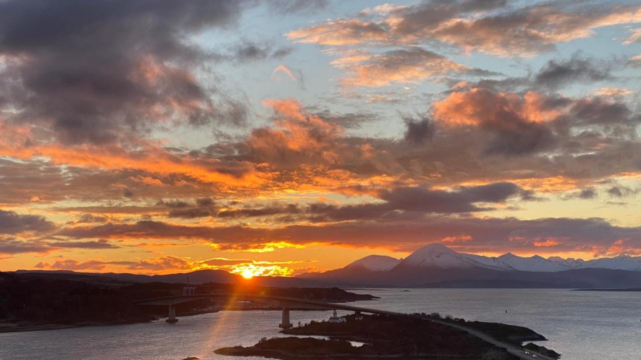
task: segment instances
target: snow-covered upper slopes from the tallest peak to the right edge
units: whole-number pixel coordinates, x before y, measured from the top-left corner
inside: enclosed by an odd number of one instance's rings
[[[560,272],[580,268],[605,268],[641,272],[641,256],[617,256],[585,261],[583,259],[563,259],[554,256],[548,259],[542,256],[524,258],[510,252],[498,257],[476,254],[462,254],[440,243],[431,243],[401,261],[402,266],[420,266],[428,268],[488,268],[503,271],[526,272]]]

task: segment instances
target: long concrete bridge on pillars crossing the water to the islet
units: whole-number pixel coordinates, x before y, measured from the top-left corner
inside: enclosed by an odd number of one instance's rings
[[[280,307],[283,311],[283,316],[279,327],[289,328],[292,323],[289,320],[289,311],[292,308],[300,310],[346,310],[354,311],[356,314],[369,313],[379,315],[394,315],[394,316],[407,316],[392,311],[367,309],[365,307],[349,306],[344,304],[337,304],[334,302],[326,302],[319,300],[298,299],[295,297],[281,297],[276,295],[260,295],[260,294],[237,294],[237,293],[208,293],[197,295],[176,295],[171,297],[158,297],[154,299],[144,299],[134,302],[137,305],[165,305],[169,306],[169,317],[167,322],[177,322],[176,319],[176,304],[196,300],[216,300],[217,302],[233,304],[239,301],[258,302],[260,304],[267,304],[271,306]]]

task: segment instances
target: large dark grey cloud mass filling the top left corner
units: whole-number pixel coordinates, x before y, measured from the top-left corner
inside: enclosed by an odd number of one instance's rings
[[[65,143],[136,140],[156,126],[241,122],[244,104],[189,72],[207,57],[188,37],[235,24],[247,1],[0,3],[0,98],[13,122]]]

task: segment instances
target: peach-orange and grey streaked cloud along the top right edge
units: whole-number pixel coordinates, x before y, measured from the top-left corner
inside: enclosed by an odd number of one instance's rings
[[[499,3],[496,3],[499,4]],[[557,6],[538,3],[521,8],[492,8],[478,2],[426,2],[378,11],[372,20],[338,19],[290,31],[298,42],[321,45],[415,45],[433,40],[498,56],[534,56],[556,44],[594,35],[594,29],[641,22],[641,6]],[[498,10],[488,12],[487,10]],[[372,15],[365,10],[363,15]],[[371,19],[371,17],[370,17]],[[624,40],[630,44],[637,33]]]

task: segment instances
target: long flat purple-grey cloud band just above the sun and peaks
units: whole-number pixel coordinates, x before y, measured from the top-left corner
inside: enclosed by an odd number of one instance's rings
[[[394,219],[397,220],[397,219]],[[469,236],[457,250],[503,252],[536,249],[538,252],[587,251],[596,255],[620,253],[641,246],[641,227],[621,227],[603,218],[476,218],[431,216],[419,221],[358,221],[278,228],[244,226],[206,227],[137,222],[64,229],[67,236],[88,238],[130,236],[137,238],[190,238],[211,241],[220,249],[253,249],[263,242],[329,243],[347,246],[383,246],[412,251],[444,238]],[[619,241],[622,240],[622,241]],[[535,245],[537,244],[537,245]]]

